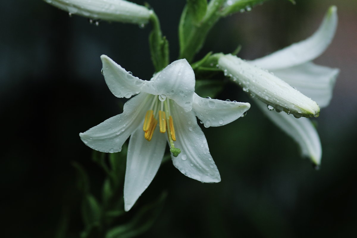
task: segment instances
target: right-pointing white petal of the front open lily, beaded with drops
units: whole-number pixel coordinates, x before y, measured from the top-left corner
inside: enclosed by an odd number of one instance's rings
[[[205,127],[223,126],[240,118],[248,109],[247,102],[227,102],[193,95],[192,110]]]

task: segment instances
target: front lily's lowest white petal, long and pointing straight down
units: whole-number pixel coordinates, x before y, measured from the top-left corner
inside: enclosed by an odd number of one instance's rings
[[[129,211],[149,186],[165,153],[166,135],[157,126],[151,141],[139,127],[130,137],[124,182],[124,207]]]

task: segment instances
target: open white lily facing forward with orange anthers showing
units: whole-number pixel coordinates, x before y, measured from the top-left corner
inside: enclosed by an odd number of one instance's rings
[[[194,92],[195,74],[185,59],[172,62],[151,81],[132,76],[106,55],[101,60],[105,81],[116,97],[139,94],[125,103],[123,113],[80,133],[80,137],[94,150],[113,153],[121,151],[131,136],[124,183],[125,211],[154,178],[166,141],[174,166],[181,173],[201,182],[220,182],[196,116],[205,127],[222,126],[241,117],[250,104],[198,96]]]

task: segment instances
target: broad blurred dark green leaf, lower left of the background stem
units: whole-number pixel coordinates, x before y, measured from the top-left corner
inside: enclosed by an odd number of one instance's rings
[[[82,219],[85,227],[100,225],[101,208],[92,194],[87,194],[82,201]]]

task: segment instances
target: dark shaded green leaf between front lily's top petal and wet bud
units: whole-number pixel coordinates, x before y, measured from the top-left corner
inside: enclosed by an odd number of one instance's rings
[[[223,90],[223,82],[218,80],[197,80],[195,92],[200,97],[215,98]]]

